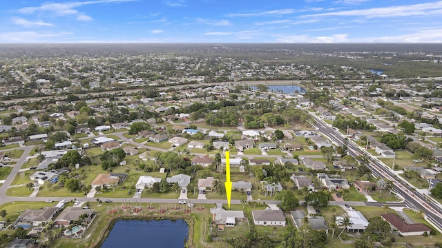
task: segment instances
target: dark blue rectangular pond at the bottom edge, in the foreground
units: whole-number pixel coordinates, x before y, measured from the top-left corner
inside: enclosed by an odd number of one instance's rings
[[[188,234],[184,220],[117,220],[102,248],[184,247]]]

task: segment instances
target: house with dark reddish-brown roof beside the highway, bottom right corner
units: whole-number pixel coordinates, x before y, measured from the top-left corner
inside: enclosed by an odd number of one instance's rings
[[[381,214],[381,217],[387,220],[392,229],[398,230],[398,233],[402,236],[420,236],[424,233],[430,234],[431,231],[430,227],[422,223],[408,224],[396,214]]]

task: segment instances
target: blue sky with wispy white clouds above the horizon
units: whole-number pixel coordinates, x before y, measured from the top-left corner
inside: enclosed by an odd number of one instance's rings
[[[442,1],[2,1],[0,43],[442,42]]]

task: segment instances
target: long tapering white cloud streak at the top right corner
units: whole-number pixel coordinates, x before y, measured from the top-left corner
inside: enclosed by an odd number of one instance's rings
[[[368,8],[363,10],[344,10],[320,14],[309,14],[304,17],[412,17],[425,15],[439,15],[442,12],[442,1],[434,3],[419,3],[404,6],[390,6],[381,8]]]

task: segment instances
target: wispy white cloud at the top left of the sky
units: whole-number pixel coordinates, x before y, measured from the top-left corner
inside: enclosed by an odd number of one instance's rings
[[[92,18],[88,17],[86,14],[75,10],[77,7],[99,4],[99,3],[121,3],[135,0],[97,0],[97,1],[74,1],[66,3],[50,3],[46,2],[38,7],[24,7],[17,10],[21,14],[40,14],[40,13],[50,13],[56,16],[70,16],[73,15],[79,21],[90,21]]]

